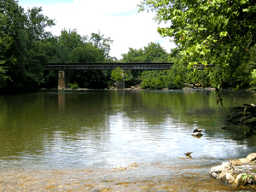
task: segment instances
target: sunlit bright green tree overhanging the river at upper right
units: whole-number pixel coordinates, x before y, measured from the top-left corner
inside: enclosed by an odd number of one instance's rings
[[[143,0],[139,6],[155,11],[154,20],[170,22],[158,32],[177,44],[181,60],[176,62],[189,67],[212,64],[209,80],[217,88],[230,81],[247,84],[255,65],[247,66],[256,42],[255,1]]]

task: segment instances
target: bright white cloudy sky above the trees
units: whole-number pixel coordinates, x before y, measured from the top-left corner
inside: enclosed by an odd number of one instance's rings
[[[43,14],[54,19],[56,25],[47,29],[53,35],[61,35],[63,29],[77,29],[79,35],[90,36],[101,32],[111,38],[110,56],[122,58],[129,48],[140,49],[150,42],[160,43],[168,53],[175,48],[170,38],[161,38],[154,13],[138,13],[141,0],[20,0],[25,10],[42,7]],[[168,24],[160,24],[168,26]]]

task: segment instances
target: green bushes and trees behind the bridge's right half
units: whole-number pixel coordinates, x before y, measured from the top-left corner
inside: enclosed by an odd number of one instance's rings
[[[160,44],[150,43],[143,49],[130,48],[123,54],[123,62],[171,62],[178,56],[171,57]],[[182,89],[184,86],[208,86],[207,71],[189,70],[176,63],[171,70],[166,71],[128,71],[125,72],[125,84],[139,84],[143,89]]]

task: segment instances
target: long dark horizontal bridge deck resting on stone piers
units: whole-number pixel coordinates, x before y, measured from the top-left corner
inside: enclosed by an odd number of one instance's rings
[[[75,70],[113,70],[120,67],[123,70],[169,70],[174,62],[154,63],[49,63],[44,70],[75,71]]]

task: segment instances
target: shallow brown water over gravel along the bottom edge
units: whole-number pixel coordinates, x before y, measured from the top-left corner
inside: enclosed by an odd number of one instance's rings
[[[205,170],[205,166],[168,166],[152,162],[105,169],[2,170],[0,191],[230,191],[206,172],[197,172],[199,169]]]

